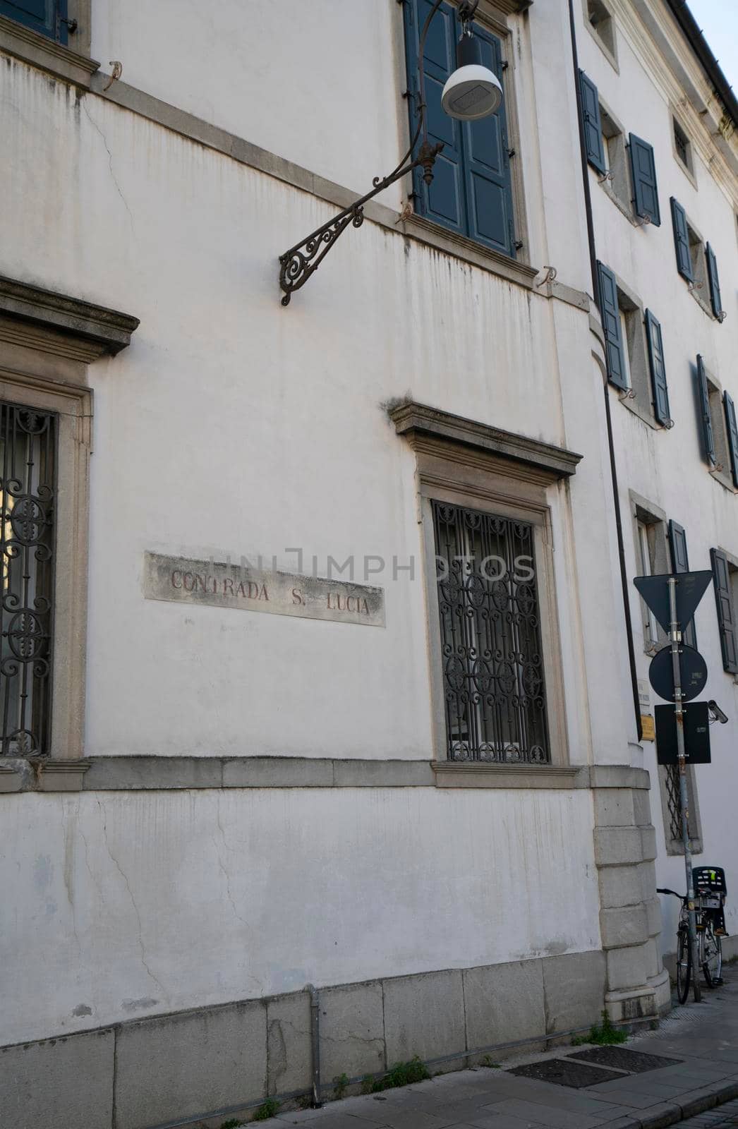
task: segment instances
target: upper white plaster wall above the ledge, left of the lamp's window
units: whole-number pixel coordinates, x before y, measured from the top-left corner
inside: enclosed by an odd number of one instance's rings
[[[358,193],[407,148],[395,0],[91,7],[91,54],[106,71],[120,60],[123,81]]]

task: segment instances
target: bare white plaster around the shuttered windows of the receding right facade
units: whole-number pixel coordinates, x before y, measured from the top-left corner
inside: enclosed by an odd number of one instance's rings
[[[581,6],[574,7],[579,20]],[[640,571],[635,564],[629,490],[636,491],[662,509],[667,518],[683,525],[689,567],[709,569],[712,546],[721,546],[738,555],[738,498],[710,476],[702,461],[694,393],[696,355],[700,352],[723,388],[730,392],[733,400],[738,399],[735,364],[738,352],[738,244],[733,204],[729,190],[715,181],[696,146],[693,146],[696,190],[682,170],[671,150],[668,98],[664,89],[656,85],[654,68],[644,63],[638,45],[629,40],[622,23],[617,21],[620,75],[607,62],[581,21],[578,42],[581,67],[596,82],[600,96],[625,131],[633,131],[653,146],[661,208],[660,228],[632,227],[598,185],[597,175],[590,169],[598,257],[640,296],[643,306],[650,307],[661,322],[669,404],[675,420],[671,430],[654,431],[620,404],[617,394],[610,391],[629,569],[632,576]],[[693,137],[697,135],[694,128],[691,132]],[[728,314],[722,325],[704,313],[677,273],[669,207],[671,195],[684,205],[689,221],[715,251],[722,304]],[[709,290],[705,288],[702,294],[709,304]],[[634,588],[631,610],[638,675],[648,680],[650,657],[643,653],[641,614]],[[709,671],[701,698],[715,699],[730,717],[728,725],[711,727],[712,763],[695,768],[704,844],[703,852],[695,856],[695,865],[726,868],[729,891],[727,925],[729,931],[735,931],[738,928],[738,829],[735,820],[738,686],[722,668],[712,588],[708,589],[697,609],[695,623],[697,645]],[[660,701],[652,692],[651,698],[652,702]],[[651,815],[659,848],[658,884],[684,891],[684,859],[666,855],[656,752],[651,743],[643,745],[643,763],[650,770],[652,780]],[[668,898],[662,899],[662,904],[661,946],[664,952],[674,952],[678,905],[675,899]]]

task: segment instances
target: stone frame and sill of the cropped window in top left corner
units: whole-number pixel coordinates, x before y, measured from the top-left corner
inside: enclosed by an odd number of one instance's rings
[[[69,44],[34,32],[10,16],[0,16],[0,51],[21,59],[56,78],[89,89],[99,63],[90,59],[93,0],[68,0],[68,18],[77,20]]]

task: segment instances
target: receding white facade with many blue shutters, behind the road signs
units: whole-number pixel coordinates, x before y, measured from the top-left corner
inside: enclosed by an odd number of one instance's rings
[[[706,662],[700,698],[729,721],[710,728],[712,762],[688,769],[691,831],[695,866],[727,872],[735,933],[736,103],[705,69],[711,52],[683,6],[587,0],[578,15],[583,90],[599,117],[589,120],[588,177],[625,559],[631,576],[714,572],[685,641]],[[666,640],[634,588],[631,616],[658,884],[684,892],[678,778],[657,765],[648,729],[661,701],[649,664]],[[662,909],[661,947],[673,954],[678,903],[666,898]]]

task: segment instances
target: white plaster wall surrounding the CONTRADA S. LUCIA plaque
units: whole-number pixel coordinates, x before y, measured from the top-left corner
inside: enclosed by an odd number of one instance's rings
[[[556,373],[573,403],[591,380],[586,315],[562,315],[557,357],[545,299],[369,222],[283,309],[284,216],[307,231],[326,207],[20,64],[11,76],[6,272],[141,317],[90,374],[87,752],[428,758],[414,457],[381,402],[410,392],[582,450],[591,420],[580,405],[564,425]],[[604,510],[601,457],[589,443],[578,474]],[[554,522],[571,754],[587,760],[572,530],[556,507]],[[147,549],[289,567],[298,545],[306,561],[414,554],[415,579],[390,563],[378,578],[385,630],[141,595]],[[605,545],[582,539],[580,570],[606,574]],[[603,686],[617,666],[603,656]],[[622,762],[609,733],[604,755]]]

